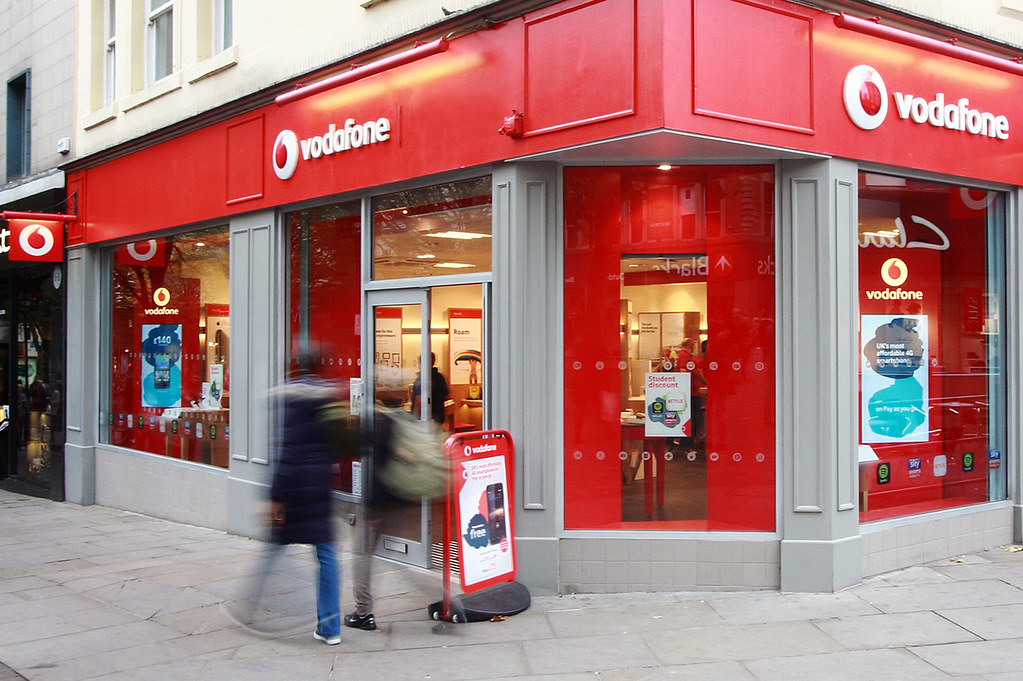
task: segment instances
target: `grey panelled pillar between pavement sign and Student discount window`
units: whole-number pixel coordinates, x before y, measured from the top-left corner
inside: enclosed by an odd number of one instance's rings
[[[534,594],[558,593],[559,175],[522,164],[493,177],[493,426],[515,441],[518,579]]]

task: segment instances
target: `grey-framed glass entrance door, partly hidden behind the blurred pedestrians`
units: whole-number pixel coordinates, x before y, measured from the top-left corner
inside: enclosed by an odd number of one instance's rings
[[[373,407],[416,410],[420,419],[430,418],[434,376],[431,371],[419,371],[420,367],[431,365],[430,290],[370,291],[367,312],[371,320],[371,349],[364,356],[371,360],[366,371],[366,403]],[[366,411],[370,419],[380,417],[375,408]],[[426,501],[407,504],[392,513],[379,553],[429,566],[430,504]]]

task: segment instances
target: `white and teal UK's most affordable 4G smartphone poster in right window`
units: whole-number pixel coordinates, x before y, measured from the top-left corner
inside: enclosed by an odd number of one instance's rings
[[[862,315],[863,443],[927,442],[927,315]]]

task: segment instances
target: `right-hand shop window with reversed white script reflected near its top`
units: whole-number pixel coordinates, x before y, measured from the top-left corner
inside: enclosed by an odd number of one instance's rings
[[[1005,197],[859,174],[860,520],[1005,499]]]

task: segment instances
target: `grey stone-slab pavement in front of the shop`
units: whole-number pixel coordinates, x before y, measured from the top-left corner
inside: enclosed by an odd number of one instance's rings
[[[438,572],[376,560],[379,629],[338,646],[311,635],[309,547],[268,577],[261,633],[232,620],[263,546],[0,491],[0,681],[1023,681],[1019,546],[835,594],[570,594],[466,625],[428,618]]]

